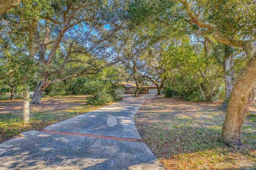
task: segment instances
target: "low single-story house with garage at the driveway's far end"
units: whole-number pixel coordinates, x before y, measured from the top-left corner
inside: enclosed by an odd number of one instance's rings
[[[134,94],[136,85],[131,83],[125,83],[122,82],[122,84],[125,87],[125,94]],[[140,86],[140,88],[143,88],[141,92],[144,94],[157,94],[157,88],[156,85],[150,85],[150,86]],[[161,93],[164,91],[164,88],[161,89]]]

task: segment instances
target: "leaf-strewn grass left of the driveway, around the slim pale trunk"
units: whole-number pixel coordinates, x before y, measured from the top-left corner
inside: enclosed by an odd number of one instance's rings
[[[87,96],[56,96],[42,98],[40,105],[30,105],[30,123],[22,123],[22,100],[0,101],[0,143],[28,130],[40,130],[77,115],[106,105],[90,106]]]

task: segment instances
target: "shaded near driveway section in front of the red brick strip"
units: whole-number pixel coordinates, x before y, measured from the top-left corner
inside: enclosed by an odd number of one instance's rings
[[[34,132],[0,145],[0,169],[154,170],[159,166],[143,143]]]

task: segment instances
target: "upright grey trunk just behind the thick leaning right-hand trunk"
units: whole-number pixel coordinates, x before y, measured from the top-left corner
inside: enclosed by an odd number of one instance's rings
[[[225,100],[223,102],[223,107],[226,108],[228,106],[228,99],[230,97],[232,88],[233,88],[233,80],[234,80],[234,56],[226,58],[224,61],[224,80],[225,80]]]

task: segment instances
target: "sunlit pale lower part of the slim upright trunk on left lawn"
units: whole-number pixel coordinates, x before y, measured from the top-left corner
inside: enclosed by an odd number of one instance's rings
[[[24,123],[29,123],[29,86],[26,86],[23,92],[22,114]]]

